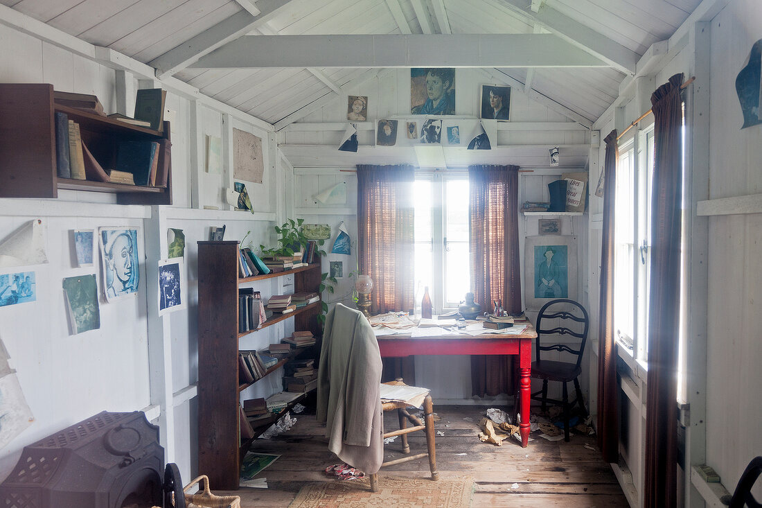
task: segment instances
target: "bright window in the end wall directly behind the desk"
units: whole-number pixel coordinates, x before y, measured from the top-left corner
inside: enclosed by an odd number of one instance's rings
[[[466,173],[415,176],[415,307],[429,288],[434,312],[470,291],[469,180]]]

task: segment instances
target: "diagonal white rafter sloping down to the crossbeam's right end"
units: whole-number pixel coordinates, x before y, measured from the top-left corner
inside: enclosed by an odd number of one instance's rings
[[[531,7],[531,3],[527,3],[531,0],[503,0],[503,2],[521,13],[527,13]],[[635,73],[635,64],[640,55],[623,47],[620,43],[604,37],[584,24],[572,21],[568,16],[547,6],[534,14],[532,18],[546,30],[559,34],[565,40],[597,58],[604,59],[622,72]]]

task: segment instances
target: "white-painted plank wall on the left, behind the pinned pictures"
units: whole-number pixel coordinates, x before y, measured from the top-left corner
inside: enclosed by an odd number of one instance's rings
[[[34,32],[34,24],[31,25]],[[46,37],[51,37],[46,34]],[[0,24],[0,82],[50,82],[56,90],[98,95],[107,112],[117,111],[119,72],[107,64],[67,49],[72,38],[53,32],[45,42]],[[81,46],[78,46],[80,49]],[[133,65],[133,64],[130,64]],[[136,65],[136,64],[135,64]],[[139,65],[136,65],[140,69]],[[166,108],[171,118],[171,207],[124,206],[115,196],[60,191],[57,200],[0,199],[0,241],[35,218],[46,223],[46,249],[50,263],[4,269],[3,273],[34,271],[37,301],[0,307],[0,339],[18,371],[21,389],[34,413],[34,423],[0,450],[0,478],[14,467],[24,445],[83,420],[101,410],[146,410],[161,426],[165,458],[175,461],[184,478],[197,474],[197,246],[207,240],[210,226],[226,224],[226,240],[255,246],[274,242],[272,225],[283,217],[283,176],[272,134],[259,121],[187,90],[126,72],[122,88],[168,88]],[[129,108],[128,108],[129,109]],[[132,111],[128,111],[131,114]],[[229,139],[223,129],[254,133],[263,140],[264,183],[247,183],[256,214],[226,211],[223,188],[232,186],[229,155],[222,175],[204,170],[207,133]],[[280,164],[278,164],[280,166]],[[204,205],[219,211],[205,211]],[[69,334],[61,282],[63,278],[101,269],[76,267],[71,252],[71,230],[102,226],[139,227],[140,287],[133,299],[111,304],[101,297],[101,328]],[[181,228],[186,238],[185,277],[188,307],[158,317],[152,308],[156,284],[155,263],[166,256],[168,227]],[[264,281],[257,286],[264,297],[293,291],[290,278]],[[100,283],[99,283],[100,286]],[[278,323],[242,341],[261,349],[293,329],[291,320]],[[268,396],[280,390],[275,374],[251,387],[245,396]]]

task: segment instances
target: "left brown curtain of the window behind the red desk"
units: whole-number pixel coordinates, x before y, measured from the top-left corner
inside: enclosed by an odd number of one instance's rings
[[[357,258],[372,313],[413,309],[413,166],[357,166]]]

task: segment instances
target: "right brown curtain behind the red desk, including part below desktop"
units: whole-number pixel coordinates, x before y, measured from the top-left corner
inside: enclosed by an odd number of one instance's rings
[[[469,166],[471,280],[482,312],[502,300],[521,312],[518,237],[518,166]],[[472,394],[511,394],[513,358],[472,355]]]

